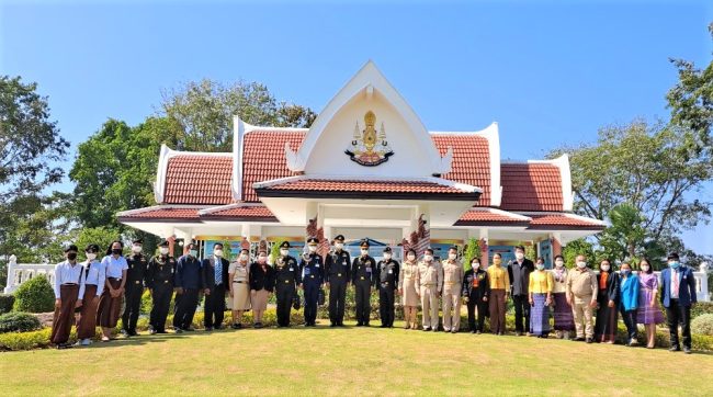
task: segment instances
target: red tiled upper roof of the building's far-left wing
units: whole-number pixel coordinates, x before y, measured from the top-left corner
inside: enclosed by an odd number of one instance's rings
[[[233,157],[181,154],[168,160],[166,171],[166,204],[233,203],[230,177]]]

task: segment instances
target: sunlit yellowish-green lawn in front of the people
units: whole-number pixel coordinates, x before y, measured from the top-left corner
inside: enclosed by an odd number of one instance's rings
[[[0,353],[0,395],[713,395],[710,353],[324,322]]]

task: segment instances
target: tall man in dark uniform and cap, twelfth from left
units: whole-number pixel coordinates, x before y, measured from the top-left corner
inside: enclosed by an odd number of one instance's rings
[[[351,275],[351,259],[349,252],[344,251],[344,236],[335,237],[335,251],[327,256],[326,262],[330,327],[343,327],[347,285]]]

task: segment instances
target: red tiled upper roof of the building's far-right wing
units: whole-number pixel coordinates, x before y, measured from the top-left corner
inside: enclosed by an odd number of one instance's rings
[[[500,185],[505,211],[563,211],[559,168],[550,163],[503,163]]]

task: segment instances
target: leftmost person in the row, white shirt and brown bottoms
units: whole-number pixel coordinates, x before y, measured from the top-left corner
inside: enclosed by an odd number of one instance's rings
[[[66,260],[55,265],[55,315],[49,340],[57,349],[71,348],[67,342],[75,319],[75,308],[82,306],[84,296],[84,266],[77,262],[77,246],[68,246],[65,249]]]

